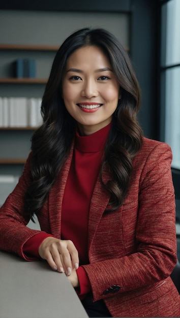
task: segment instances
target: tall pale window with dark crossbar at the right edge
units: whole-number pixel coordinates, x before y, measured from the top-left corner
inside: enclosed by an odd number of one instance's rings
[[[164,3],[161,16],[161,139],[180,169],[180,1]]]

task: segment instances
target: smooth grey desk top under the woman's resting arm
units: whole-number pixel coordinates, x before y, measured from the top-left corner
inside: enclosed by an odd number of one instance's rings
[[[64,273],[0,251],[1,318],[87,318]]]

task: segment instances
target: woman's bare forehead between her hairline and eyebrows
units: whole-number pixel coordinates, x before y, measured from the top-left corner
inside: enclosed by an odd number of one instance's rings
[[[74,66],[110,67],[109,59],[103,50],[97,46],[83,46],[73,52],[67,60],[67,68]]]

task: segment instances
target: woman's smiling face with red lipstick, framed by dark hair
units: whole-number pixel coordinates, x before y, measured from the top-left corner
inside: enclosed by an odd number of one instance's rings
[[[100,48],[85,46],[69,57],[63,99],[81,134],[93,134],[109,124],[118,98],[119,84]]]

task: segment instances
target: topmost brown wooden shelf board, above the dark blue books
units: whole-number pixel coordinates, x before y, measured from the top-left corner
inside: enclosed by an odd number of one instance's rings
[[[0,44],[0,50],[57,51],[57,45]]]

